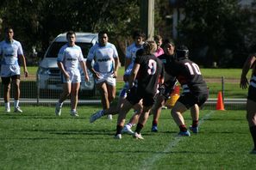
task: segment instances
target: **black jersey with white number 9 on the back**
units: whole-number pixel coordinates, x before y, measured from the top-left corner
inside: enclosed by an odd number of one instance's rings
[[[140,64],[140,69],[136,76],[138,90],[143,90],[148,94],[155,94],[159,78],[164,76],[162,62],[154,55],[145,55],[135,58],[134,64]]]

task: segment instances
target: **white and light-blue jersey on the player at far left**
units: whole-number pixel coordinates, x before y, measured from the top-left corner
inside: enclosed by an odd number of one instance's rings
[[[13,39],[12,42],[3,40],[0,43],[0,57],[2,65],[18,65],[18,56],[23,55],[22,45]]]

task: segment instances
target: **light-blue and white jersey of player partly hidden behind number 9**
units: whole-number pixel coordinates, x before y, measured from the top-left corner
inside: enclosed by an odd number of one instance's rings
[[[130,58],[132,60],[132,62],[128,65],[128,68],[125,70],[124,75],[130,75],[131,70],[134,67],[134,60],[136,58],[136,52],[142,48],[143,48],[143,44],[141,46],[136,46],[135,43],[133,43],[127,47],[125,57]]]

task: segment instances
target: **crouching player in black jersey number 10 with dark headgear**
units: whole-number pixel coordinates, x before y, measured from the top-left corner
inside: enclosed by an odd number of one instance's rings
[[[197,64],[190,61],[189,50],[186,46],[178,46],[176,48],[177,61],[172,63],[172,76],[176,76],[178,82],[183,88],[183,93],[178,98],[178,101],[172,108],[172,118],[178,124],[180,132],[179,136],[190,136],[190,131],[198,133],[199,107],[208,99],[208,88],[206,82],[203,81],[203,76]],[[187,130],[184,124],[183,112],[192,108],[193,124],[190,126],[190,131]]]

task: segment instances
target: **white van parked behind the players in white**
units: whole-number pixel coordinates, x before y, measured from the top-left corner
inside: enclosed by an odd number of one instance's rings
[[[80,46],[86,61],[87,54],[91,46],[97,43],[97,33],[76,33],[76,45]],[[57,65],[57,57],[59,49],[67,43],[66,33],[59,34],[45,52],[37,70],[37,84],[40,90],[61,90],[62,82],[60,78],[60,70]],[[84,81],[84,72],[81,71],[80,90],[89,91],[90,94],[96,93],[94,78],[89,70],[90,81]]]

